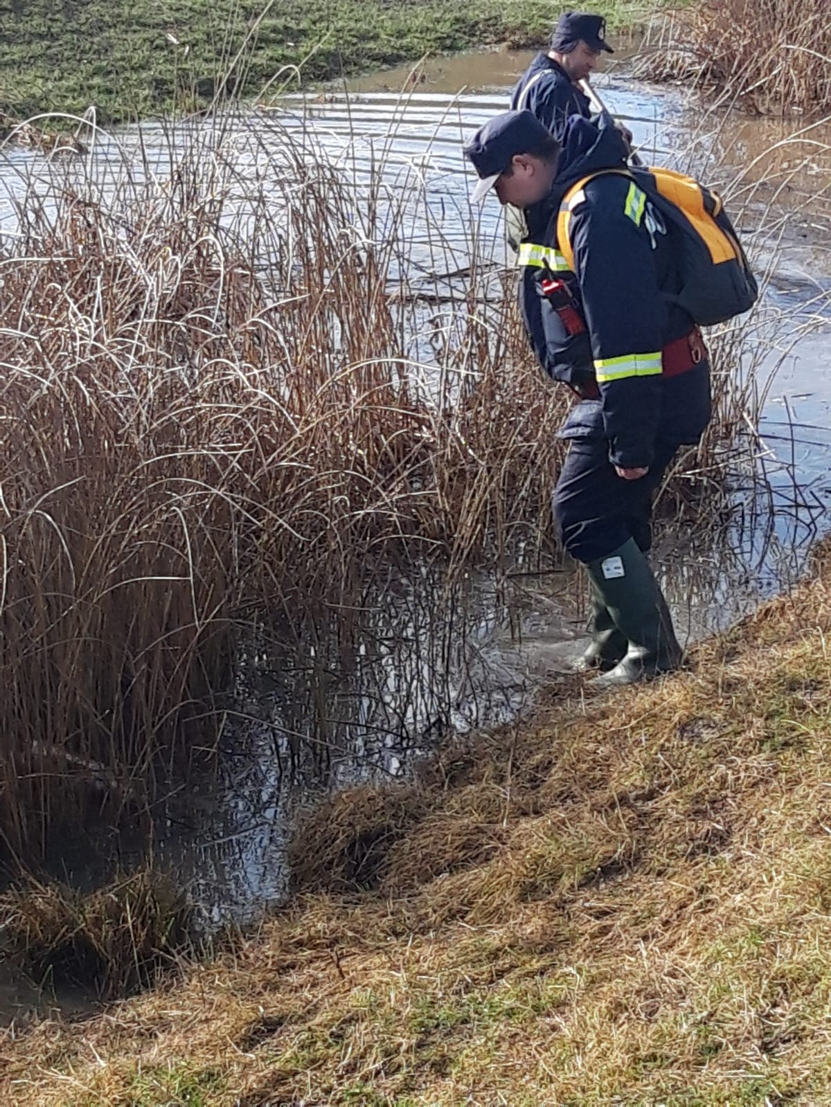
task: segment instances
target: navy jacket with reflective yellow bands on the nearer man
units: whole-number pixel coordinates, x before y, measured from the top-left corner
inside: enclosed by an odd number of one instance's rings
[[[599,400],[568,415],[563,437],[602,436],[609,459],[625,468],[650,465],[657,442],[695,443],[709,421],[706,362],[679,376],[661,374],[661,351],[694,329],[671,302],[679,289],[674,245],[660,213],[632,178],[588,182],[570,204],[574,272],[556,250],[557,214],[568,189],[592,172],[626,168],[626,145],[611,118],[573,117],[551,194],[525,215],[520,249],[520,306],[543,369],[557,381],[596,381]],[[554,276],[568,284],[586,331],[570,337],[541,289]]]

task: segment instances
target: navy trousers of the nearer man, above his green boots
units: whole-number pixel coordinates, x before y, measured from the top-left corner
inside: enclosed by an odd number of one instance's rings
[[[563,545],[586,565],[608,557],[629,538],[652,546],[652,501],[677,443],[656,443],[655,461],[639,480],[624,480],[608,459],[605,437],[573,438],[554,489],[554,518]]]

